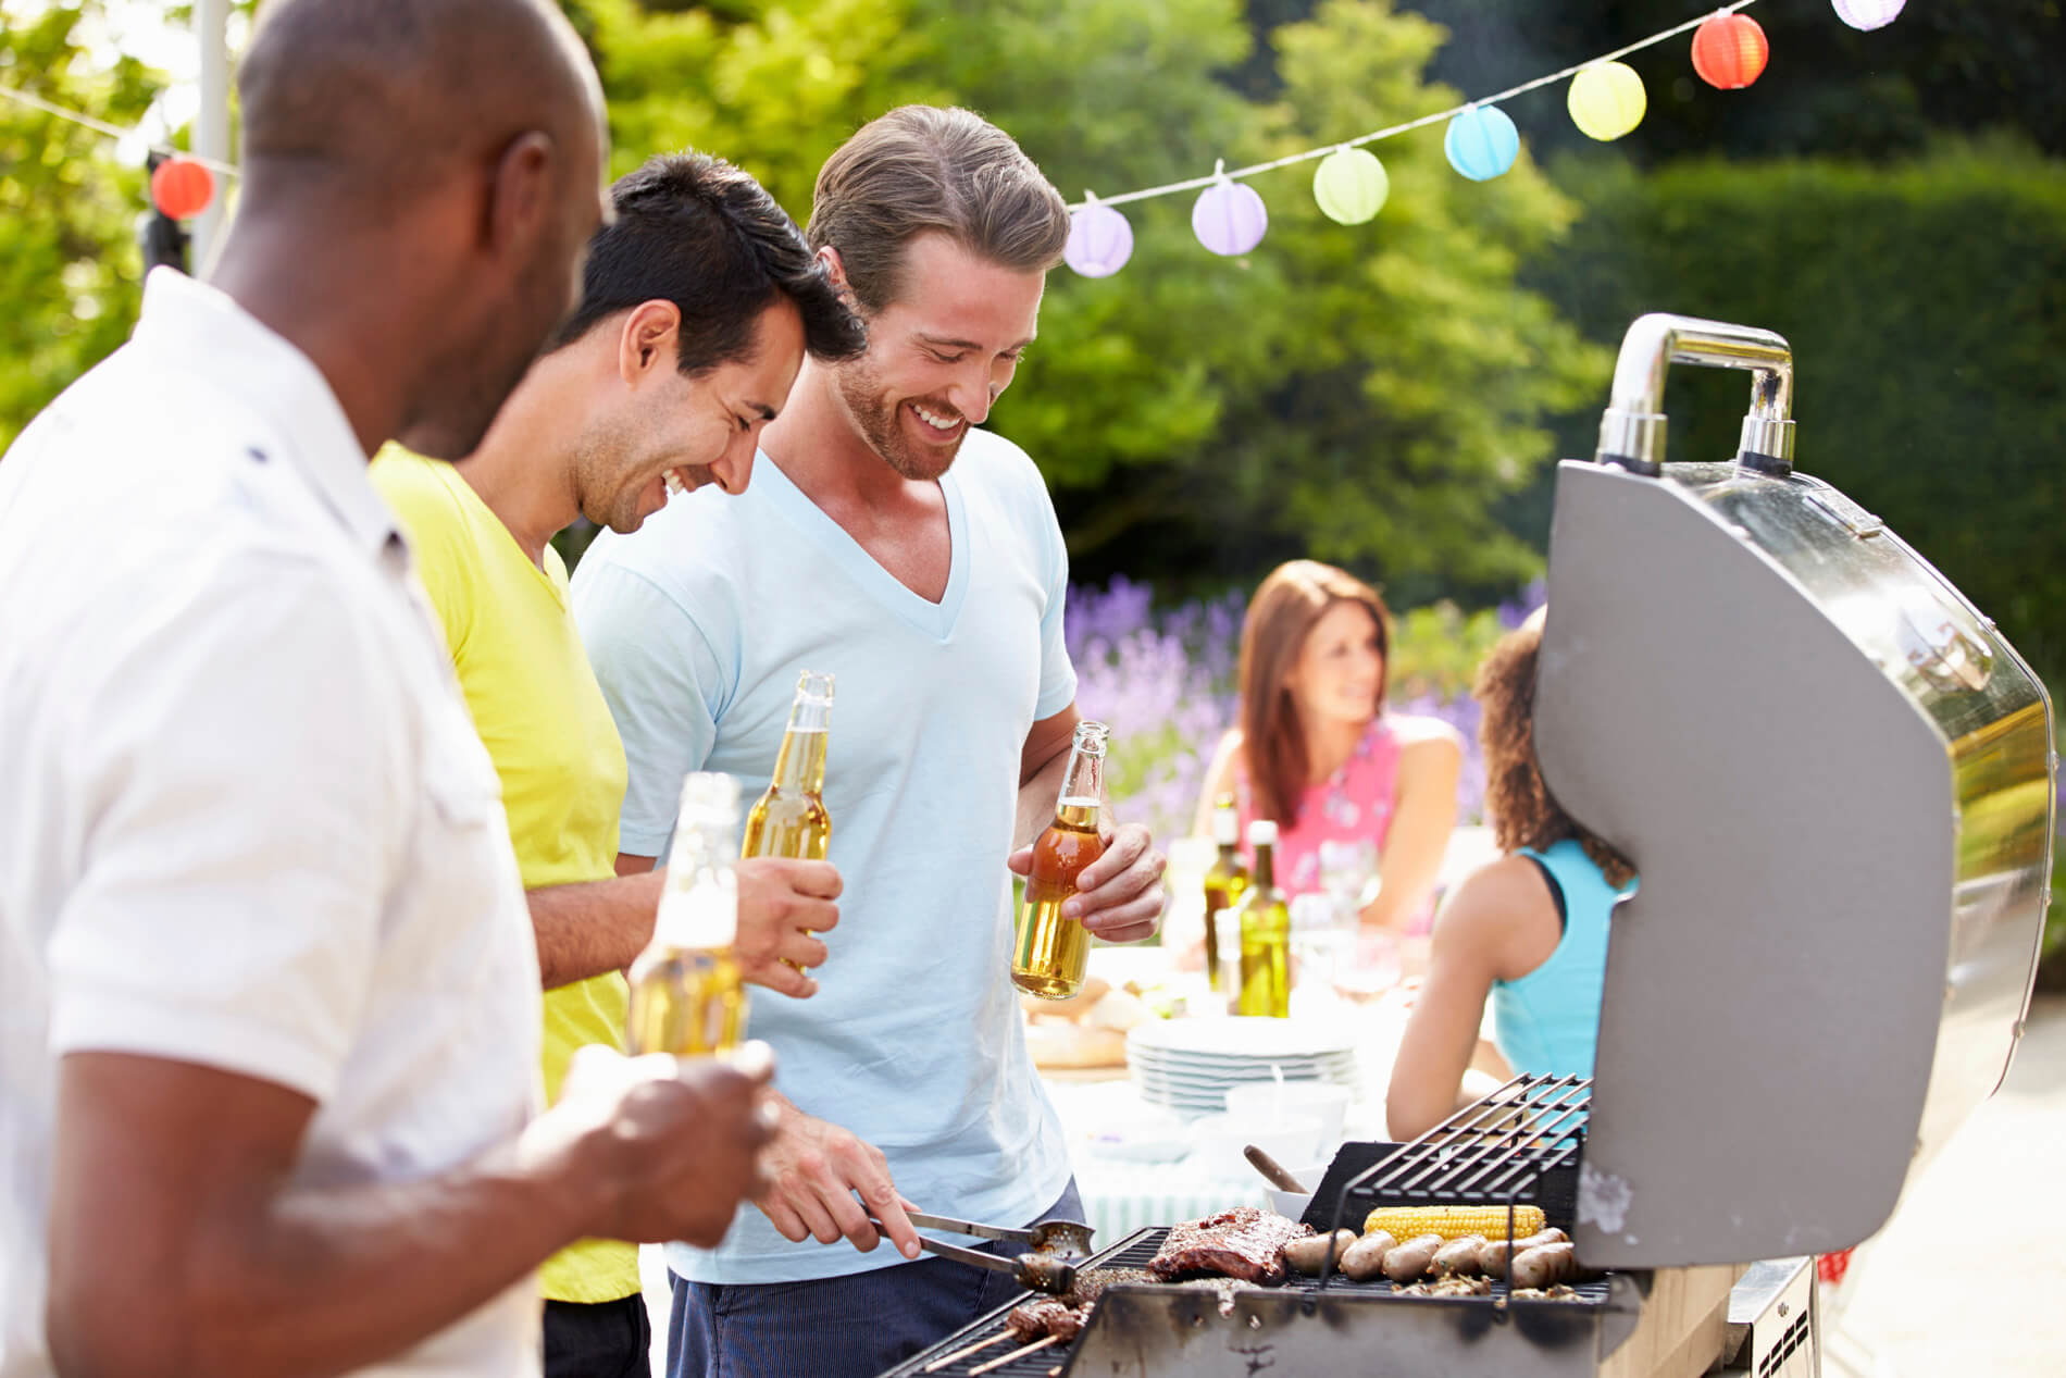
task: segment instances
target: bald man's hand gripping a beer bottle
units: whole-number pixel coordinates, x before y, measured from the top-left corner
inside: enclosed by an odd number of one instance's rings
[[[740,1202],[762,1188],[758,1159],[777,1120],[773,1074],[766,1043],[746,1043],[725,1062],[624,1058],[589,1045],[519,1153],[574,1165],[597,1194],[593,1235],[717,1248]]]

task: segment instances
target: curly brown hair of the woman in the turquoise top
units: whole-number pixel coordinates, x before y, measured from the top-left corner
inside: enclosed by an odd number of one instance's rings
[[[1535,663],[1543,645],[1541,626],[1529,622],[1502,636],[1477,667],[1477,698],[1483,717],[1477,740],[1485,752],[1485,814],[1500,851],[1533,847],[1541,851],[1566,837],[1607,876],[1626,886],[1636,868],[1601,837],[1564,812],[1541,769],[1535,764]]]

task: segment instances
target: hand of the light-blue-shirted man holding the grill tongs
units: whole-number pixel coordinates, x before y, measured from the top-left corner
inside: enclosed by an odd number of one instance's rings
[[[882,1238],[868,1219],[874,1213],[897,1252],[917,1258],[917,1231],[905,1217],[905,1209],[915,1207],[890,1182],[882,1151],[837,1124],[806,1116],[781,1097],[775,1099],[781,1105],[781,1128],[762,1155],[769,1184],[754,1196],[754,1204],[781,1238],[791,1244],[806,1238],[837,1244],[847,1238],[866,1254]]]

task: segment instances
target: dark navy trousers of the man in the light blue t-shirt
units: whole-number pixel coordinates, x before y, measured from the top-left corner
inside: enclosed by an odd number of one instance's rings
[[[1074,1182],[1033,1217],[1050,1219],[1083,1219]],[[1004,1258],[1023,1252],[969,1246]],[[810,1283],[717,1285],[674,1273],[667,1281],[667,1378],[874,1378],[1019,1293],[1008,1273],[932,1256]]]

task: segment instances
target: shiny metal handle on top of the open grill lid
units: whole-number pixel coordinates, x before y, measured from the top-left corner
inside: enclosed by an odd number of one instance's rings
[[[1651,312],[1622,337],[1614,397],[1599,417],[1595,463],[1657,477],[1665,457],[1665,370],[1671,364],[1750,370],[1750,413],[1735,463],[1783,477],[1793,471],[1793,349],[1748,324]]]

